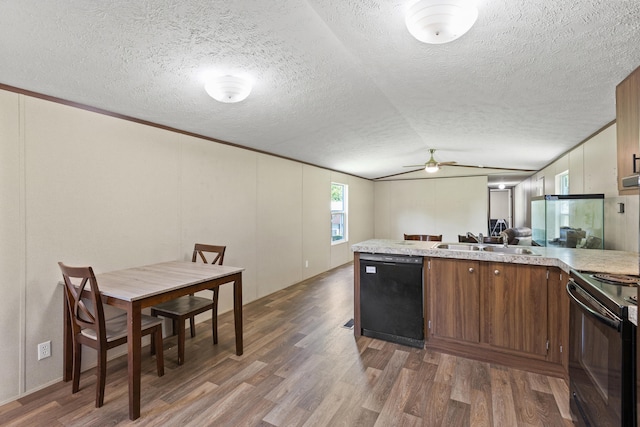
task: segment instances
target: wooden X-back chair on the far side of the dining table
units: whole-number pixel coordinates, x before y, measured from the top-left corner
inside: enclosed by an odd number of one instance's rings
[[[204,245],[196,243],[193,248],[191,261],[196,262],[200,258],[207,263],[205,253],[213,254],[211,264],[222,265],[226,246]],[[211,256],[211,255],[210,255]],[[178,334],[178,365],[184,363],[184,340],[185,340],[185,320],[189,319],[191,338],[196,336],[195,316],[205,311],[211,310],[211,333],[213,343],[218,343],[218,294],[219,289],[215,287],[213,298],[203,298],[195,295],[186,295],[171,301],[151,307],[152,316],[162,316],[172,320],[173,335]]]

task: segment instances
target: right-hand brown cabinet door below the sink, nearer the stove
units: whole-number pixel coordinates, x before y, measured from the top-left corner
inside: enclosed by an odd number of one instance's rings
[[[547,268],[483,264],[482,341],[496,347],[546,356]]]

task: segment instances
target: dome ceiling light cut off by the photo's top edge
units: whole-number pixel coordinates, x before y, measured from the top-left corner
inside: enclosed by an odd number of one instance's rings
[[[448,43],[469,31],[478,19],[473,0],[419,0],[405,18],[413,37],[424,43]]]

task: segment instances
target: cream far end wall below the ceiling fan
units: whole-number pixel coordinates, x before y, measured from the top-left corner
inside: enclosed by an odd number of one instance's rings
[[[379,181],[375,183],[375,236],[442,234],[457,242],[471,231],[488,234],[487,177]]]

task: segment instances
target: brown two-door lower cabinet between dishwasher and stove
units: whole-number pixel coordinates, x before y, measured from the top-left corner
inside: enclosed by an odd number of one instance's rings
[[[566,377],[560,269],[446,258],[427,265],[427,347]]]

